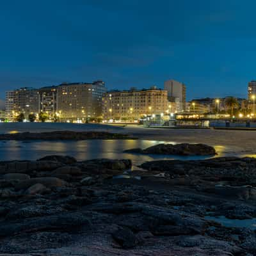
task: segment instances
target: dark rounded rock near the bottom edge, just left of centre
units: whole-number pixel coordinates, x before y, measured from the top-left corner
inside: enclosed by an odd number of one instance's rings
[[[138,238],[129,228],[120,227],[112,234],[112,236],[124,249],[134,248],[139,244]]]

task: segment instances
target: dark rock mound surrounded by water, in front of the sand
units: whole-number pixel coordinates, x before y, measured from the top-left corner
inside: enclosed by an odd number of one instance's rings
[[[161,155],[180,155],[180,156],[207,156],[215,155],[214,147],[205,144],[159,144],[149,148],[132,148],[125,150],[125,153],[137,154],[161,154]]]

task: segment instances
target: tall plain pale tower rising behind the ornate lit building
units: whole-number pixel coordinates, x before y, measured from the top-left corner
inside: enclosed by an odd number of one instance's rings
[[[186,86],[175,80],[164,82],[164,90],[168,92],[168,100],[176,102],[179,111],[186,110]]]

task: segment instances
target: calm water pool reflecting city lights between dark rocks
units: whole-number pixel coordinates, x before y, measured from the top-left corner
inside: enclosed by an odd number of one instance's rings
[[[136,164],[154,159],[205,159],[207,156],[164,156],[127,154],[124,150],[130,148],[147,148],[159,143],[173,141],[150,140],[83,140],[83,141],[0,141],[0,160],[34,160],[52,154],[74,156],[78,161],[93,158],[131,159]],[[220,146],[218,150],[221,151]],[[223,148],[222,148],[223,150]]]

